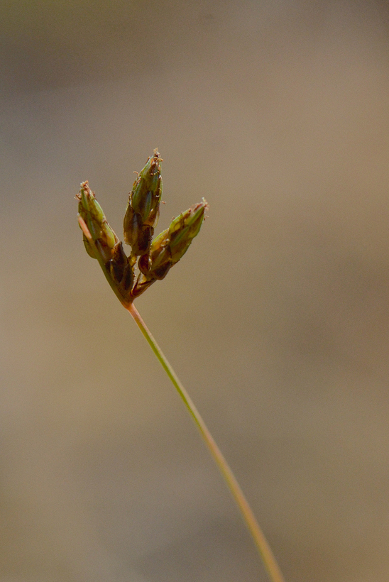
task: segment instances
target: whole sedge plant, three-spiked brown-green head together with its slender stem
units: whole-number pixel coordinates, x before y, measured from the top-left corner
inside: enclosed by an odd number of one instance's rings
[[[224,459],[190,395],[177,378],[175,371],[133,304],[136,297],[145,292],[150,285],[165,278],[170,268],[186,253],[193,238],[199,233],[208,208],[208,204],[203,198],[202,202],[198,202],[182,212],[172,220],[168,229],[153,238],[154,229],[158,222],[163,188],[160,172],[161,162],[158,150],[154,150],[153,155],[148,158],[145,167],[138,174],[128,196],[124,215],[124,242],[131,247],[128,256],[118,236],[106,221],[102,207],[97,202],[94,192],[90,190],[88,182],[82,183],[76,198],[79,201],[78,221],[82,229],[84,246],[89,256],[99,261],[106,280],[111,285],[116,297],[123,307],[130,312],[197,425],[204,443],[217,463],[219,471],[241,511],[243,520],[251,532],[270,581],[284,582],[273,552],[238,481],[236,481],[234,473]]]

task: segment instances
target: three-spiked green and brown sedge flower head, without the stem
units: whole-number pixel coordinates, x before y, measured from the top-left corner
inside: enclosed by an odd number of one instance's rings
[[[198,234],[208,208],[203,198],[202,202],[173,219],[169,228],[153,240],[163,189],[161,162],[160,154],[154,150],[128,195],[124,215],[124,242],[131,246],[129,256],[109,226],[88,182],[82,182],[77,194],[80,226],[84,231],[83,241],[87,253],[99,260],[111,287],[125,305],[131,304],[153,282],[165,278]]]

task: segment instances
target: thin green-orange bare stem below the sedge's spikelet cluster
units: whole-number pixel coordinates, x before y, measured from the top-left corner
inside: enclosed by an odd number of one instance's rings
[[[207,447],[211,452],[214,461],[217,463],[217,466],[219,467],[219,470],[222,476],[224,477],[226,484],[229,486],[229,490],[231,491],[236,501],[236,505],[238,505],[239,509],[241,510],[243,520],[246,522],[246,526],[248,527],[248,530],[251,532],[251,535],[253,536],[256,547],[263,560],[263,564],[265,565],[265,569],[268,571],[268,574],[270,576],[270,580],[272,582],[285,582],[283,574],[281,573],[277,561],[275,560],[275,556],[273,555],[273,551],[271,551],[270,546],[265,538],[265,535],[263,534],[261,527],[259,527],[256,517],[254,516],[250,505],[248,505],[248,501],[246,500],[246,497],[244,496],[238,481],[236,481],[234,473],[231,471],[231,468],[229,467],[229,464],[227,463],[226,459],[224,459],[224,456],[221,453],[219,446],[217,446],[216,442],[214,441],[212,434],[207,429],[207,425],[204,423],[204,420],[200,416],[199,411],[193,404],[190,395],[182,386],[180,380],[177,378],[177,375],[175,374],[175,371],[172,369],[172,366],[170,366],[170,363],[166,359],[163,351],[158,346],[157,342],[155,341],[153,335],[150,333],[145,322],[143,322],[143,319],[139,314],[138,309],[136,309],[133,303],[126,307],[126,309],[128,309],[133,319],[135,319],[136,324],[138,325],[139,329],[141,329],[143,336],[145,336],[146,341],[148,342],[150,348],[153,350],[161,366],[168,374],[168,377],[172,381],[172,384],[175,386],[177,392],[184,401],[187,410],[189,410],[192,419],[195,421],[195,424],[197,425],[199,432],[202,434],[205,444],[207,444]]]

